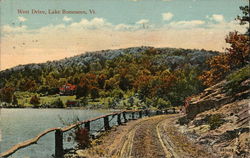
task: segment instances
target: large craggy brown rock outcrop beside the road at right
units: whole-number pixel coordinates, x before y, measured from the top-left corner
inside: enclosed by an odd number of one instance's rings
[[[247,158],[250,157],[250,81],[242,81],[234,94],[226,90],[228,83],[224,80],[194,96],[186,109],[189,123],[181,130],[196,143],[212,147],[219,157]],[[211,122],[210,116],[221,117]],[[211,129],[209,125],[216,123],[219,126]]]

